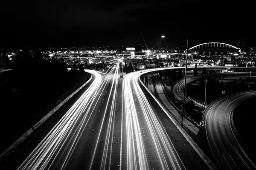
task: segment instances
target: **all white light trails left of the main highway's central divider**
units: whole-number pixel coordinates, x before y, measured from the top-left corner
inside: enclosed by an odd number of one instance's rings
[[[97,148],[104,136],[104,151],[100,162],[100,168],[105,169],[106,165],[111,160],[111,146],[113,135],[113,123],[116,103],[116,87],[119,77],[119,65],[113,65],[109,69],[109,74],[106,74],[105,79],[96,71],[85,70],[92,74],[95,80],[72,107],[64,114],[58,123],[50,130],[44,139],[38,144],[32,153],[18,167],[18,170],[42,170],[42,169],[65,169],[73,156],[73,152],[87,124],[92,119],[92,114],[99,103],[100,96],[103,96],[103,89],[108,88],[111,83],[110,93],[107,95],[106,107],[103,109],[103,118],[101,118],[100,128],[96,143],[93,144],[93,154],[91,156],[90,166],[88,169],[93,169],[93,164],[99,164],[96,161]],[[107,94],[107,92],[106,92]],[[112,97],[111,97],[112,96]],[[104,99],[103,99],[104,100]],[[108,112],[110,111],[110,113]],[[107,115],[110,115],[109,117]],[[107,124],[107,129],[103,129],[103,124]],[[98,125],[97,125],[98,126]],[[110,147],[109,147],[110,146]]]

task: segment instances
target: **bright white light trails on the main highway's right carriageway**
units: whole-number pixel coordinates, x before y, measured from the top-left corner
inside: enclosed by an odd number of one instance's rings
[[[143,73],[147,72],[150,72],[150,70],[143,71]],[[154,156],[159,162],[159,164],[155,166],[163,170],[186,169],[154,109],[140,88],[140,75],[141,73],[139,72],[128,74],[123,82],[127,129],[127,169],[149,169],[147,150],[145,150],[146,139],[144,139],[145,137],[143,133],[141,133],[142,128],[140,127],[142,124],[141,121],[143,120],[141,116],[143,116],[145,121],[143,123],[147,126],[147,129],[143,129],[143,132],[147,131],[150,134],[152,139],[151,143],[155,149]],[[132,91],[134,91],[134,94]],[[134,104],[134,96],[136,96],[140,103],[140,109],[142,110],[141,116],[137,113],[138,111]]]

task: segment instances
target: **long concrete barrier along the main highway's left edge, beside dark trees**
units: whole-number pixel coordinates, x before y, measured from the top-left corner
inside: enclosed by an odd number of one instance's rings
[[[39,122],[37,122],[34,126],[32,126],[29,130],[27,130],[22,136],[20,136],[17,141],[15,141],[10,147],[8,147],[3,153],[0,155],[0,161],[3,160],[12,150],[14,150],[19,144],[21,144],[33,131],[35,131],[36,128],[38,128],[40,125],[42,125],[53,113],[55,113],[62,105],[64,105],[71,97],[73,97],[78,91],[80,91],[85,85],[90,82],[92,79],[92,76],[90,79],[85,82],[83,85],[81,85],[80,88],[78,88],[76,91],[74,91],[70,96],[68,96],[66,99],[63,100],[58,106],[56,106],[52,111],[50,111],[46,116],[44,116]]]

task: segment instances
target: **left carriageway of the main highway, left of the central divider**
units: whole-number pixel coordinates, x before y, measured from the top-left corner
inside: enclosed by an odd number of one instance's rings
[[[90,88],[64,114],[32,153],[17,168],[38,169],[110,169],[119,155],[120,143],[114,143],[116,90],[119,64],[109,74],[85,70],[96,78]],[[116,161],[115,161],[116,162]],[[117,166],[117,165],[116,165]]]

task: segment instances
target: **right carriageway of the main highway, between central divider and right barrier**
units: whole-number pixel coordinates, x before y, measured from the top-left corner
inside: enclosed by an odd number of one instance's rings
[[[126,147],[123,147],[122,152],[122,160],[126,164],[122,164],[122,167],[131,170],[181,170],[191,166],[188,164],[196,162],[193,168],[208,169],[195,150],[190,153],[189,150],[192,147],[189,144],[185,144],[187,147],[185,153],[180,148],[176,149],[177,140],[183,143],[186,139],[160,106],[151,105],[148,96],[145,96],[139,79],[140,75],[146,71],[127,74],[123,80],[123,102],[125,103],[125,125],[123,127],[127,133],[123,137],[125,139],[123,141],[126,141],[126,144],[123,142],[123,146]],[[177,131],[172,131],[175,130],[174,128]],[[167,130],[172,132],[167,133]],[[174,136],[176,139],[173,139]],[[183,154],[190,156],[184,159]]]

